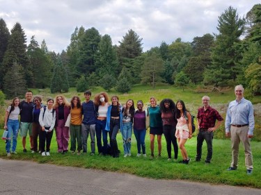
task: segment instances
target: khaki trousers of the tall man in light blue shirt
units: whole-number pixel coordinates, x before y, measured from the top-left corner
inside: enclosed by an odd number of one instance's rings
[[[248,126],[235,127],[231,126],[231,147],[232,147],[232,162],[230,167],[237,167],[238,155],[239,155],[239,144],[242,142],[245,151],[245,164],[246,169],[253,169],[253,156],[251,153],[250,142],[247,137]]]

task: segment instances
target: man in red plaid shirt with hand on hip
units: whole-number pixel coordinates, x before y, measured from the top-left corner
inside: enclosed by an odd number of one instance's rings
[[[223,117],[219,115],[219,112],[209,106],[209,96],[203,96],[203,107],[198,108],[198,137],[197,137],[197,155],[196,161],[201,160],[202,145],[207,142],[207,158],[205,163],[209,164],[212,159],[212,139],[214,131],[219,128],[223,121]],[[217,123],[216,123],[217,120]]]

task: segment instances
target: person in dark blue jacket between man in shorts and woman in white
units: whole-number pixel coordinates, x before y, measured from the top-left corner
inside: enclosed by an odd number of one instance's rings
[[[36,153],[38,151],[38,135],[41,130],[41,126],[39,124],[39,115],[40,115],[40,109],[42,108],[42,99],[40,96],[35,96],[33,99],[34,105],[33,105],[33,128],[32,128],[32,135],[33,135],[33,151],[32,153]],[[42,151],[40,149],[39,144],[39,151]]]

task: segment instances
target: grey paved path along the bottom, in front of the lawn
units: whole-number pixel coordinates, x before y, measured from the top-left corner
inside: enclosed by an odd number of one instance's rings
[[[261,189],[154,180],[123,173],[0,159],[0,194],[260,195]]]

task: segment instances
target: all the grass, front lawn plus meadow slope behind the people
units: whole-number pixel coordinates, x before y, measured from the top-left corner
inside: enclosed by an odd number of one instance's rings
[[[93,96],[101,91],[102,88],[97,87],[91,90]],[[56,96],[56,94],[50,94],[49,89],[47,90],[35,90],[33,89],[33,94],[41,95],[43,100],[46,100],[48,96]],[[191,111],[193,115],[196,115],[198,107],[201,105],[201,98],[204,95],[210,97],[210,105],[216,108],[223,117],[226,117],[226,108],[228,103],[235,99],[235,94],[233,89],[223,90],[222,92],[205,92],[201,93],[197,89],[184,89],[184,92],[180,88],[176,88],[168,85],[160,85],[155,89],[150,86],[135,85],[130,92],[127,94],[119,94],[112,90],[109,92],[109,96],[116,94],[120,97],[120,103],[125,103],[127,99],[134,99],[134,102],[141,99],[143,102],[148,104],[150,96],[155,96],[158,101],[164,98],[171,98],[173,101],[177,99],[182,99],[186,104],[187,108]],[[84,93],[79,93],[75,91],[75,88],[70,88],[68,93],[63,94],[65,97],[70,99],[74,95],[80,96],[81,100],[84,101]],[[17,155],[12,155],[10,159],[14,160],[32,160],[39,163],[52,163],[62,166],[73,166],[73,167],[84,167],[92,169],[102,169],[105,171],[117,171],[120,173],[131,173],[137,176],[143,176],[147,178],[165,178],[165,179],[184,179],[193,180],[204,183],[213,184],[226,184],[226,185],[239,185],[261,188],[261,98],[260,96],[255,96],[251,101],[255,104],[255,131],[254,138],[251,142],[251,149],[253,151],[254,160],[254,171],[252,176],[246,175],[246,168],[244,167],[244,149],[240,147],[240,158],[239,158],[239,169],[237,171],[226,171],[230,166],[231,161],[231,149],[230,140],[224,138],[224,125],[222,124],[219,130],[215,133],[215,138],[213,142],[214,153],[212,164],[205,164],[204,160],[201,162],[194,162],[196,155],[196,135],[190,139],[186,148],[189,153],[189,157],[192,162],[189,165],[179,164],[177,162],[168,162],[166,153],[166,142],[163,139],[162,146],[162,158],[155,158],[150,160],[149,158],[136,158],[136,139],[132,135],[132,157],[123,158],[123,154],[120,154],[120,158],[114,159],[109,156],[99,156],[99,155],[72,155],[70,153],[66,155],[60,155],[56,153],[57,144],[55,135],[52,139],[51,146],[51,156],[42,157],[38,154],[32,153],[22,153],[22,141],[19,138],[17,142]],[[8,101],[6,105],[8,105]],[[4,110],[6,106],[0,108],[0,125],[3,121]],[[3,130],[0,130],[0,134]],[[2,135],[2,134],[1,134]],[[148,156],[150,155],[150,142],[149,135],[146,135],[146,151]],[[155,142],[156,143],[156,142]],[[26,142],[27,149],[29,149],[29,140]],[[118,145],[120,146],[120,151],[122,149],[122,138],[118,134]],[[88,151],[90,148],[88,140]],[[157,154],[157,144],[155,146],[155,154]],[[207,146],[203,144],[203,159],[206,157]],[[0,140],[0,157],[5,158],[5,144]],[[181,154],[179,153],[179,160],[181,160]]]

